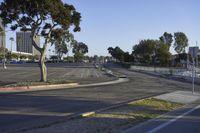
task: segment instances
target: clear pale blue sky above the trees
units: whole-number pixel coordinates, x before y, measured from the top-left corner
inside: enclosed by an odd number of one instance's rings
[[[2,1],[2,0],[0,0]],[[81,13],[81,32],[75,39],[89,47],[89,56],[109,55],[119,46],[132,52],[142,39],[158,39],[164,32],[184,32],[190,46],[200,46],[200,0],[63,0]],[[15,33],[8,32],[9,37]],[[175,53],[171,48],[171,52]]]

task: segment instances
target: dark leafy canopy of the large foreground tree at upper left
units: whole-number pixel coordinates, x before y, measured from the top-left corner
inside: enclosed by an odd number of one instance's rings
[[[72,5],[64,4],[61,0],[4,0],[0,10],[3,23],[12,23],[12,30],[21,27],[46,36],[47,31],[57,25],[68,29],[73,24],[74,31],[80,31],[80,13],[76,12]],[[37,31],[38,27],[40,31]]]

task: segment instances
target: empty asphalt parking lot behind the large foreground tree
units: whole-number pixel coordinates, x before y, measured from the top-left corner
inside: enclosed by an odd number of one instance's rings
[[[96,69],[93,64],[49,63],[48,80],[69,80],[78,83],[93,83],[113,80],[105,72]],[[0,85],[38,81],[38,64],[8,64],[7,69],[0,68]]]

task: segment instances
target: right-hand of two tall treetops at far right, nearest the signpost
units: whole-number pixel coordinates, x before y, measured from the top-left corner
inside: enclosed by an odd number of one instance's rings
[[[175,51],[180,53],[185,53],[185,48],[188,46],[188,38],[183,32],[174,33],[174,48]]]

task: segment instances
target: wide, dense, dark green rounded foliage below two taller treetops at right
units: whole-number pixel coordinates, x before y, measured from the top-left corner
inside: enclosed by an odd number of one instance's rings
[[[144,65],[162,65],[170,63],[169,45],[160,40],[142,40],[133,47],[133,55]]]

